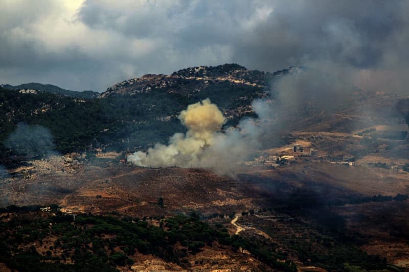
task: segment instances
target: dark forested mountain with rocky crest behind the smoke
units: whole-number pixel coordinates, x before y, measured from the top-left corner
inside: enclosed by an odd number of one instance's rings
[[[179,112],[205,98],[222,110],[228,119],[225,127],[235,126],[242,117],[255,116],[252,101],[265,97],[268,83],[289,71],[261,72],[237,64],[201,66],[169,76],[146,75],[124,81],[108,88],[99,98],[81,100],[72,95],[84,92],[65,92],[53,85],[5,85],[0,89],[2,154],[24,155],[11,152],[4,144],[18,123],[46,127],[53,136],[55,150],[63,153],[82,152],[91,144],[123,151],[167,142],[175,132],[185,131],[177,119]]]

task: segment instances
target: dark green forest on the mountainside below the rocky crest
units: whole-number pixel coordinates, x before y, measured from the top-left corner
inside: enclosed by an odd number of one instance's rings
[[[82,100],[50,92],[19,93],[0,87],[0,152],[3,158],[10,155],[35,157],[35,154],[16,152],[5,145],[19,123],[50,130],[55,151],[62,153],[83,152],[90,146],[116,151],[143,149],[156,142],[166,143],[176,132],[185,132],[177,116],[189,104],[209,97],[224,112],[248,106],[263,94],[260,87],[236,86],[228,81],[211,82],[202,86],[200,92],[193,92],[195,84],[191,81],[180,78],[171,86],[148,93]],[[174,89],[182,91],[171,91]],[[254,116],[252,113],[245,115]],[[232,118],[225,126],[237,125],[242,117],[244,115]]]

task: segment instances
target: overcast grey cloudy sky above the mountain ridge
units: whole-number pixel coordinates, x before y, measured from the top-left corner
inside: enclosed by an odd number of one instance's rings
[[[408,92],[408,2],[0,0],[0,7],[0,83],[104,91],[145,73],[235,62],[352,71],[360,87]]]

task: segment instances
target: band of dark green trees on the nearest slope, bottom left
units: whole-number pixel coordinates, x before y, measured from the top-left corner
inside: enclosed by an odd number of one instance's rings
[[[43,244],[50,236],[58,239],[51,246]],[[188,268],[189,256],[214,241],[234,250],[246,249],[272,268],[297,271],[292,262],[277,261],[285,256],[276,253],[275,246],[230,236],[226,229],[212,228],[196,214],[164,219],[155,227],[139,218],[78,215],[74,220],[58,213],[49,217],[17,213],[0,222],[0,262],[19,271],[115,271],[117,265],[132,264],[138,251]],[[44,247],[45,253],[39,254],[35,246],[28,249],[28,244]]]

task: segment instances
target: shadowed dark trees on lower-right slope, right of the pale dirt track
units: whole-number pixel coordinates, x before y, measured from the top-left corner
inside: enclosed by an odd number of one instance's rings
[[[297,212],[300,213],[291,213]],[[305,265],[322,267],[327,271],[347,271],[348,265],[365,271],[396,269],[388,264],[387,259],[368,255],[355,246],[359,239],[346,230],[342,216],[322,208],[305,211],[303,218],[308,219],[288,221],[284,227],[286,233],[280,232],[279,237],[274,227],[265,227],[263,231],[277,239],[287,251],[297,255]]]

